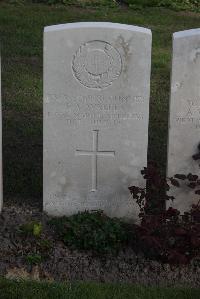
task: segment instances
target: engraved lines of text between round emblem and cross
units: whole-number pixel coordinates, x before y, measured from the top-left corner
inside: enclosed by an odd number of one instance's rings
[[[48,94],[46,101],[55,105],[48,117],[59,118],[69,126],[88,123],[105,127],[144,119],[141,105],[145,104],[145,98],[142,96]],[[131,112],[132,105],[134,112]]]

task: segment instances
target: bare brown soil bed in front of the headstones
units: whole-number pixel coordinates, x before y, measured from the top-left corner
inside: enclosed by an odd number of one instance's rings
[[[56,281],[126,282],[143,285],[200,287],[200,261],[187,266],[170,267],[147,260],[131,248],[117,256],[95,256],[92,252],[70,250],[57,239],[50,219],[38,207],[5,206],[0,215],[0,275],[10,278],[34,278]],[[37,253],[37,241],[19,232],[22,224],[42,223],[42,239],[51,241],[46,258],[30,265],[27,256]]]

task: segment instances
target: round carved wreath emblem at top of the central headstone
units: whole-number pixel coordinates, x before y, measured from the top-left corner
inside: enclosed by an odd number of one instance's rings
[[[80,46],[72,60],[72,71],[85,87],[103,89],[122,72],[122,59],[117,49],[105,41],[89,41]]]

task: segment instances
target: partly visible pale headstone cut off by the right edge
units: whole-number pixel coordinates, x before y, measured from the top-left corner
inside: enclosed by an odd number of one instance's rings
[[[200,29],[176,32],[173,36],[173,62],[169,119],[168,175],[200,174],[192,159],[200,143]],[[181,212],[196,203],[199,196],[183,184],[171,192],[172,204]]]

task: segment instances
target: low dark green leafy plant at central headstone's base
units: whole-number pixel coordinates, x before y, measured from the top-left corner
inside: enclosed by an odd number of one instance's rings
[[[125,224],[105,216],[102,211],[54,218],[50,224],[67,246],[100,254],[117,253],[128,240]]]

